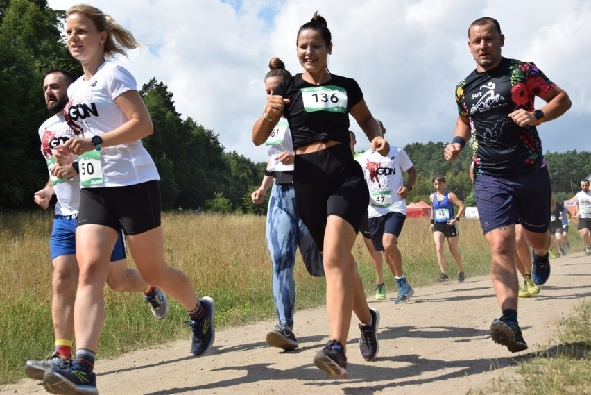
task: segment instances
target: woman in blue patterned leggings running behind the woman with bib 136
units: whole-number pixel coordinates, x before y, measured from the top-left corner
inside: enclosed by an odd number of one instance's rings
[[[271,69],[264,78],[265,91],[270,95],[281,81],[291,78],[280,58],[269,62]],[[293,335],[295,282],[293,266],[295,249],[299,246],[306,269],[312,276],[324,276],[322,255],[308,229],[295,209],[293,190],[293,143],[286,119],[281,119],[265,142],[269,162],[261,186],[252,192],[252,202],[260,204],[271,189],[266,224],[266,238],[273,269],[273,302],[279,324],[266,335],[267,344],[285,351],[298,347]]]

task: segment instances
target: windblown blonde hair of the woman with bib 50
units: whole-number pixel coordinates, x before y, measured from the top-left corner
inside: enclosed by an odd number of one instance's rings
[[[66,18],[72,14],[80,14],[89,18],[94,22],[94,26],[99,32],[107,32],[107,40],[105,40],[105,56],[112,58],[115,53],[127,56],[127,49],[135,49],[141,47],[133,34],[110,16],[105,14],[99,8],[90,6],[89,4],[76,4],[71,6],[66,11]]]

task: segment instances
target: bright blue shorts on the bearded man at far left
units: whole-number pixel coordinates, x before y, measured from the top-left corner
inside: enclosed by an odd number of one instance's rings
[[[53,217],[53,229],[49,239],[49,255],[51,260],[62,255],[73,255],[76,253],[76,224],[78,215],[59,215]],[[126,258],[125,239],[123,233],[119,232],[117,242],[111,253],[111,262],[117,262]]]

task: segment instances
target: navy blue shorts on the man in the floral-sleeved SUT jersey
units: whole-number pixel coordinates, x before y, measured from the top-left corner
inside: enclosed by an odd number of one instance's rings
[[[547,232],[551,189],[546,167],[514,177],[479,174],[474,190],[484,233],[517,221],[531,232]]]

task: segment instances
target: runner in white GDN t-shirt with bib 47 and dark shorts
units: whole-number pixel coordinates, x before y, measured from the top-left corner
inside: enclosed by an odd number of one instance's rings
[[[382,130],[384,126],[378,121]],[[413,189],[417,171],[402,148],[391,146],[387,156],[366,151],[357,157],[370,192],[368,225],[376,251],[384,251],[388,267],[395,276],[398,296],[395,303],[409,300],[414,290],[402,270],[397,242],[406,220],[406,196]],[[404,184],[403,174],[409,174]]]

